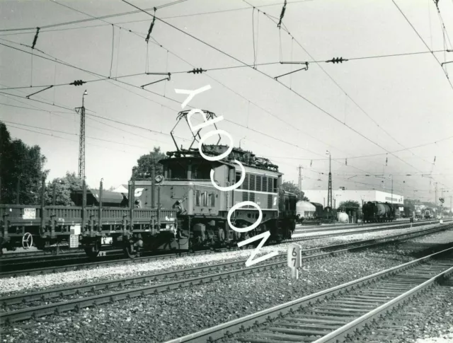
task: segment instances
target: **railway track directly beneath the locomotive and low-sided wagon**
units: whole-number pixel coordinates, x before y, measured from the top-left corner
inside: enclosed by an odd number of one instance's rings
[[[432,222],[430,222],[432,223]],[[438,223],[435,221],[434,223]],[[428,223],[413,223],[412,227],[424,226],[428,225]],[[401,228],[410,228],[411,224],[406,223],[402,225],[392,225],[390,227],[386,226],[379,226],[378,228],[363,228],[357,229],[355,231],[347,231],[347,232],[336,232],[336,233],[326,233],[324,235],[314,235],[314,236],[304,236],[300,238],[292,238],[292,240],[285,240],[282,243],[296,243],[304,240],[311,240],[311,239],[320,239],[320,238],[328,238],[333,236],[348,236],[357,233],[371,233],[374,231],[384,231],[384,230],[396,230]],[[253,246],[244,247],[247,249],[254,248]],[[244,249],[242,248],[242,249]],[[216,252],[226,252],[226,251],[234,251],[238,250],[239,248],[220,248],[215,250],[200,250],[195,252],[179,252],[179,253],[171,253],[171,254],[164,254],[164,255],[145,255],[143,257],[137,257],[133,260],[129,258],[122,258],[124,257],[122,252],[116,252],[115,250],[111,250],[108,255],[103,257],[98,257],[98,260],[94,261],[90,260],[86,256],[78,256],[78,257],[45,257],[44,260],[40,259],[32,259],[31,261],[28,260],[29,257],[19,260],[16,259],[8,259],[8,260],[1,260],[1,272],[0,278],[5,277],[18,277],[22,275],[35,275],[35,274],[49,274],[55,272],[68,272],[71,270],[82,270],[82,269],[91,269],[96,267],[105,267],[108,265],[113,264],[135,264],[141,262],[151,262],[153,260],[167,260],[178,256],[194,256],[194,255],[207,255]],[[145,253],[146,254],[146,253]]]

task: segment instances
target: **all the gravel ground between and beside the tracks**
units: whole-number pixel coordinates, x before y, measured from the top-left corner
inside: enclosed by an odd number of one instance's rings
[[[27,310],[30,306],[40,308],[52,306],[55,303],[71,303],[77,299],[83,300],[92,296],[110,294],[109,292],[120,293],[147,287],[155,287],[155,289],[154,292],[144,291],[144,293],[123,298],[122,296],[110,298],[109,301],[100,300],[94,306],[93,304],[84,306],[82,302],[76,310],[64,310],[62,307],[63,310],[57,314],[50,310],[50,312],[35,315],[34,318],[28,316],[30,319],[13,319],[2,325],[1,342],[166,342],[411,262],[439,250],[452,248],[453,228],[448,225],[449,223],[443,224],[449,227],[447,230],[428,236],[359,250],[352,249],[332,255],[322,255],[319,251],[308,252],[307,256],[313,254],[320,256],[302,260],[297,280],[291,278],[291,273],[286,266],[287,243],[263,248],[263,253],[273,250],[282,253],[275,259],[261,262],[263,267],[259,267],[260,264],[256,265],[258,267],[245,267],[244,262],[250,256],[251,250],[236,250],[152,262],[99,266],[93,269],[54,274],[3,278],[0,279],[1,316],[13,311]],[[439,224],[391,230],[383,228],[382,231],[314,238],[298,243],[302,245],[302,250],[309,250],[359,240],[386,238],[436,226]],[[362,228],[354,228],[355,231],[360,229]],[[306,234],[308,235],[309,231]],[[337,250],[340,250],[340,247]],[[449,255],[450,261],[452,256],[452,254]],[[237,263],[234,264],[234,262]],[[224,264],[224,266],[214,269],[213,267],[217,264]],[[253,269],[253,267],[256,268]],[[183,269],[194,268],[198,269],[186,275],[176,274]],[[164,273],[167,274],[164,275]],[[217,275],[231,274],[225,277],[213,277],[212,281],[209,278],[205,278],[205,281],[197,281],[200,277],[216,273]],[[151,274],[159,274],[159,279],[149,278],[139,281],[137,285],[130,284],[130,281],[129,284],[123,282],[120,286],[114,284],[114,281],[120,279],[147,277]],[[181,281],[188,279],[193,279],[193,285],[180,285]],[[94,283],[102,282],[111,282],[111,285],[108,288],[96,286],[95,289],[90,289]],[[173,286],[172,283],[175,285],[179,283],[179,285]],[[169,286],[159,288],[162,284]],[[60,292],[70,287],[80,287],[80,289],[85,287],[87,290],[82,289],[79,293]],[[38,293],[38,296],[31,297],[37,292],[45,293],[56,289],[58,291],[53,295],[47,294],[40,297]],[[24,299],[21,302],[8,303],[7,299],[15,296],[24,296]],[[367,337],[382,335],[380,338],[382,340],[379,341],[378,338],[376,342],[437,342],[426,340],[430,337],[444,339],[438,342],[447,342],[445,339],[448,339],[453,332],[452,302],[453,283],[448,281],[442,286],[430,289],[423,296],[415,298],[410,305],[403,307],[403,312],[400,309],[401,313],[392,314],[389,319],[379,321],[380,326],[376,329],[372,327]],[[27,318],[27,315],[24,318]],[[398,330],[392,329],[393,334],[389,338],[389,335],[383,333],[385,325],[397,327]],[[33,337],[33,340],[30,337]],[[253,338],[253,335],[250,337]],[[273,341],[270,338],[265,341],[238,339],[240,337],[234,335],[220,342],[299,342]],[[316,337],[309,337],[303,342],[311,342],[315,339]],[[367,342],[363,337],[357,339],[358,342]],[[206,342],[206,340],[182,342]]]

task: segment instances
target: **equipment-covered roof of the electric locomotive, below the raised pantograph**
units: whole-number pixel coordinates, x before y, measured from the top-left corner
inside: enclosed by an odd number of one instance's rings
[[[205,153],[205,155],[207,156],[219,156],[222,153],[224,153],[227,149],[228,146],[224,145],[216,144],[203,145],[203,153]],[[180,149],[178,151],[168,151],[166,154],[168,158],[159,161],[159,163],[166,164],[168,163],[168,161],[174,161],[176,159],[179,161],[183,161],[188,158],[196,158],[207,161],[205,160],[205,158],[201,156],[200,151],[198,151],[198,149]],[[237,160],[241,162],[244,166],[248,166],[251,168],[270,170],[275,173],[280,173],[278,171],[278,165],[273,164],[270,160],[268,160],[268,158],[257,157],[251,151],[245,151],[241,148],[233,148],[231,150],[231,153],[229,153],[229,156],[227,156],[226,158],[222,158],[222,160],[216,162],[226,165],[235,165],[234,160]]]

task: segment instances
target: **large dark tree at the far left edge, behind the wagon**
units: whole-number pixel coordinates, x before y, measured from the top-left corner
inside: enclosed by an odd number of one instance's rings
[[[46,158],[39,146],[28,146],[21,139],[11,139],[0,122],[0,194],[1,204],[39,204]]]

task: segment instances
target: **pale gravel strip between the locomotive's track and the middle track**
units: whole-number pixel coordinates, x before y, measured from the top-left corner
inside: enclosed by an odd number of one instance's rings
[[[417,228],[403,228],[392,231],[377,231],[373,233],[358,233],[355,235],[321,238],[314,240],[304,240],[299,244],[302,249],[318,248],[321,246],[352,242],[355,240],[365,240],[378,237],[393,236],[398,233],[418,231],[430,226]],[[288,244],[272,245],[262,249],[263,254],[275,251],[286,252]],[[55,274],[32,275],[16,278],[0,279],[0,295],[8,296],[12,293],[38,291],[49,288],[64,287],[74,284],[86,284],[89,282],[99,282],[110,279],[119,279],[154,272],[164,272],[180,270],[183,268],[201,267],[222,262],[236,260],[246,260],[253,250],[236,250],[230,252],[219,252],[212,255],[199,255],[192,257],[178,257],[172,260],[143,262],[127,265],[110,265],[108,267],[98,267],[96,269],[86,269],[70,272],[59,272]],[[256,257],[258,257],[257,255]]]

